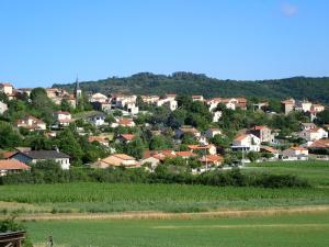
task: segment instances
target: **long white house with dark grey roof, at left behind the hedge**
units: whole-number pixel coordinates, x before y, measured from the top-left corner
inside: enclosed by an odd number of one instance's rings
[[[20,160],[24,164],[36,164],[37,161],[50,159],[58,162],[63,170],[68,170],[70,168],[70,157],[59,150],[19,151],[10,158]]]

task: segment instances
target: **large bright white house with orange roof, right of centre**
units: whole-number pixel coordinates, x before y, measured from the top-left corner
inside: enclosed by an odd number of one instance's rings
[[[260,151],[261,139],[253,134],[238,135],[231,145],[232,150]]]

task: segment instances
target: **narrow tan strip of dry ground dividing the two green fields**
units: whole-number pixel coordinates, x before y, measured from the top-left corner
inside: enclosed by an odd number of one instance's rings
[[[175,220],[175,218],[204,218],[204,217],[241,217],[268,216],[298,213],[329,213],[329,205],[270,207],[256,210],[222,210],[200,213],[166,213],[166,212],[122,212],[122,213],[41,213],[23,214],[18,218],[22,221],[73,221],[73,220]],[[1,217],[1,215],[0,215]]]

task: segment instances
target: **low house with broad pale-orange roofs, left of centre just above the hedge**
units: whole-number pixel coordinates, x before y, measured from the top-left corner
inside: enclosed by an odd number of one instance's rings
[[[110,155],[92,165],[94,168],[109,168],[109,167],[140,167],[140,164],[136,161],[134,157],[125,154]]]

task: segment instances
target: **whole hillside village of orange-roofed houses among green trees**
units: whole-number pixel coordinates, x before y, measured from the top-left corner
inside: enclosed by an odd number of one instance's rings
[[[220,92],[218,92],[220,94]],[[41,160],[71,166],[184,167],[329,160],[328,108],[308,100],[127,96],[0,83],[0,176]],[[179,169],[178,169],[179,170]]]

